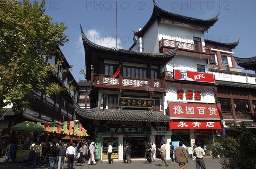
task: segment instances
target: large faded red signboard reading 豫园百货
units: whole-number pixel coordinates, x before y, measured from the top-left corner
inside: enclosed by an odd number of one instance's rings
[[[221,118],[221,105],[169,103],[170,117]]]

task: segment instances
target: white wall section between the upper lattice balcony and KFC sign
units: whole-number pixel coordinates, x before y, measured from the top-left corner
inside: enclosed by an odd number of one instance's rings
[[[172,72],[173,69],[181,69],[197,72],[197,65],[204,65],[205,71],[208,72],[207,62],[205,59],[200,60],[195,57],[188,57],[183,55],[175,56],[170,62],[166,64],[166,71]]]

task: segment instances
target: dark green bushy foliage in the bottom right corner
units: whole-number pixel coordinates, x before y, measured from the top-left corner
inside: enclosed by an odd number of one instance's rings
[[[256,114],[242,112],[256,122]],[[256,169],[256,133],[245,127],[231,126],[230,130],[238,133],[237,140],[228,136],[215,137],[208,145],[212,149],[214,157],[221,156],[223,169]]]

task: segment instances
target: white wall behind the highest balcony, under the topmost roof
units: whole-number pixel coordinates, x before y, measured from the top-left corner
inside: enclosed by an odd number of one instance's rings
[[[194,43],[193,37],[200,37],[202,45],[204,43],[204,35],[202,31],[197,31],[195,28],[184,28],[180,26],[172,26],[171,24],[159,24],[158,26],[158,39],[169,39],[179,42]]]

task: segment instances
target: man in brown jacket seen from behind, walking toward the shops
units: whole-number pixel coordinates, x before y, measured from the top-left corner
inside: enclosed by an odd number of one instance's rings
[[[188,153],[182,146],[183,142],[179,142],[179,146],[175,149],[175,161],[179,163],[180,169],[184,169],[185,164],[188,162]]]

